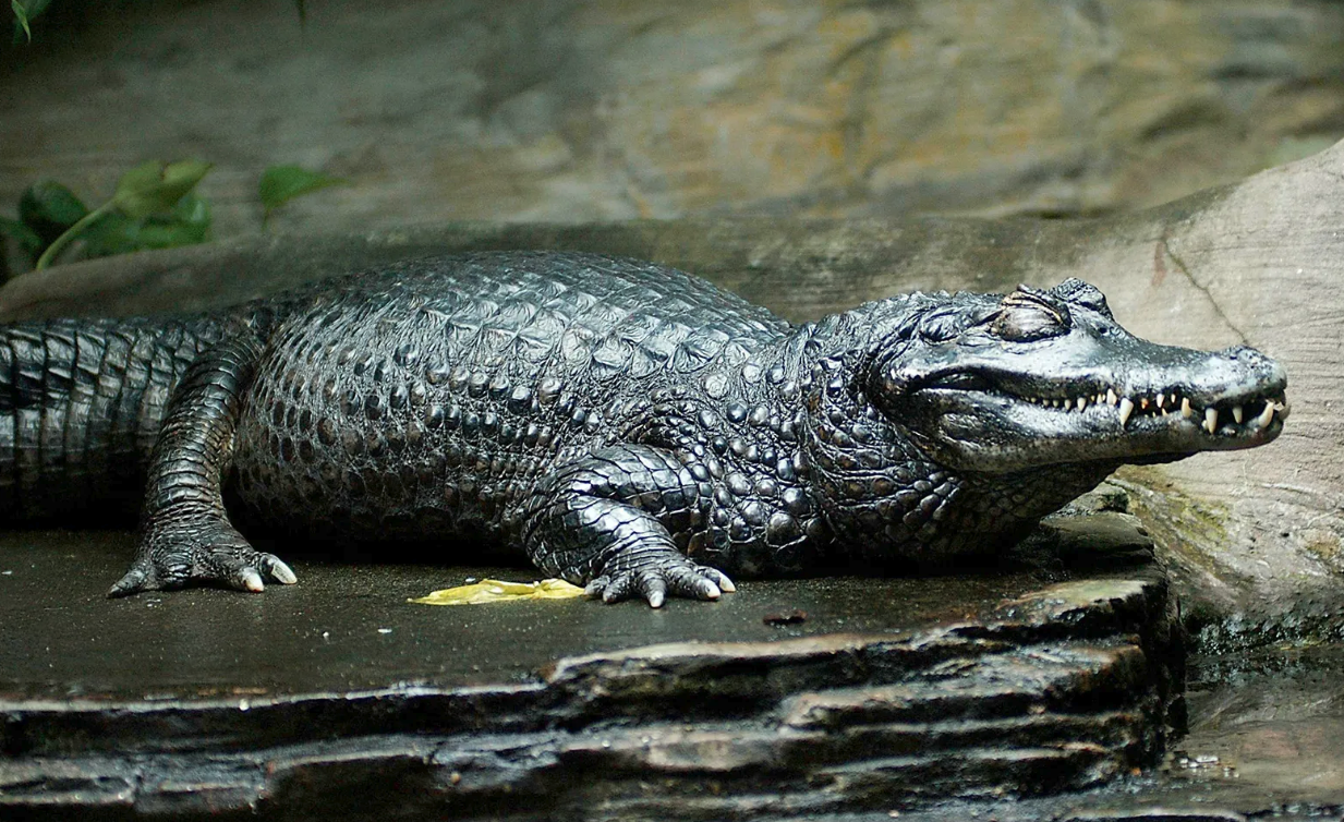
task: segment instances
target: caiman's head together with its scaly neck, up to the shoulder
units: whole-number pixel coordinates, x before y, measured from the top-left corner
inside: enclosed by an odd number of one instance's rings
[[[1289,411],[1274,360],[1140,340],[1078,279],[892,298],[851,318],[868,333],[844,387],[813,395],[812,443],[827,516],[864,553],[984,549],[1122,463],[1265,445]]]

